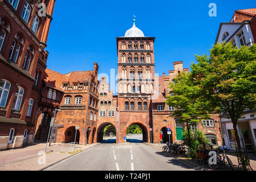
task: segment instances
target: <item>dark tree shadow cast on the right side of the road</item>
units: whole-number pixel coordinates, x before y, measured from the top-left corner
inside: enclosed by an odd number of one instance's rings
[[[191,160],[191,159],[176,159],[174,158],[174,156],[171,156],[171,154],[168,154],[168,152],[155,152],[156,154],[158,155],[162,155],[166,158],[170,158],[168,160],[168,163],[174,165],[174,166],[180,166],[180,167],[183,167],[183,168],[187,168],[187,169],[196,169],[196,170],[202,170],[201,168],[199,167],[196,167],[196,166],[193,166],[192,164],[190,164],[190,162],[186,162],[186,160]]]

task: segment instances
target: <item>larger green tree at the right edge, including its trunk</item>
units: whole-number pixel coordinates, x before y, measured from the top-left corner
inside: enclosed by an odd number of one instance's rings
[[[197,64],[192,64],[191,75],[198,86],[201,99],[209,102],[209,109],[217,109],[220,114],[228,114],[234,128],[238,146],[238,158],[242,169],[246,170],[249,159],[241,150],[237,121],[243,118],[243,111],[255,109],[256,104],[256,45],[242,46],[231,43],[216,44],[207,55],[196,56]]]

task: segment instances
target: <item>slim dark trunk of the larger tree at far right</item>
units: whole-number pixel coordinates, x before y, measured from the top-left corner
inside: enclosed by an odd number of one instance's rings
[[[239,134],[238,134],[238,130],[237,130],[237,119],[232,119],[231,121],[233,123],[233,128],[234,128],[234,134],[237,140],[237,148],[238,148],[238,158],[240,159],[240,162],[242,163],[242,170],[246,171],[247,170],[247,164],[246,164],[246,156],[243,154],[242,152],[242,147],[241,147],[241,142],[240,142],[240,138],[239,138]]]

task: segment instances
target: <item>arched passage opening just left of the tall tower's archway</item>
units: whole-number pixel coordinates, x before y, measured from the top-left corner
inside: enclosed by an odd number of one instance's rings
[[[115,143],[116,130],[112,123],[102,123],[97,130],[97,142],[99,143]]]

